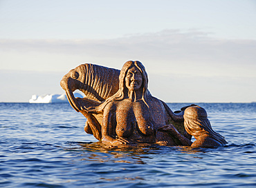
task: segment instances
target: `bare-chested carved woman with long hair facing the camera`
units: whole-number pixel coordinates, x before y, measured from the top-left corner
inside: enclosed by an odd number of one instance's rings
[[[94,136],[97,134],[95,138],[105,145],[176,145],[172,137],[157,129],[167,125],[170,119],[183,122],[183,115],[174,114],[163,101],[152,96],[147,85],[147,72],[143,64],[127,61],[120,71],[119,87],[115,94],[100,103],[93,102],[92,105],[88,105],[90,100],[86,98],[71,97],[70,101],[74,101],[73,106],[77,112],[82,112],[87,118],[84,130]],[[66,88],[64,82],[62,87]],[[70,92],[68,94],[72,95]],[[97,115],[102,118],[95,118]]]

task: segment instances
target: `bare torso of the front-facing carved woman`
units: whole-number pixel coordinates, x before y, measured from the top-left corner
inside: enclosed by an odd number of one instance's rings
[[[156,141],[157,127],[165,125],[163,110],[156,104],[152,107],[152,101],[149,101],[148,107],[143,100],[131,101],[129,98],[111,103],[116,109],[111,122],[116,127],[116,136],[143,143]]]

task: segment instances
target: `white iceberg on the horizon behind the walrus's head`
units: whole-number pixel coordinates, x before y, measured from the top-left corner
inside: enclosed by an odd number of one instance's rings
[[[74,96],[83,98],[80,93],[74,93]],[[46,94],[40,96],[33,94],[29,99],[29,103],[68,103],[68,98],[66,98],[66,94]]]

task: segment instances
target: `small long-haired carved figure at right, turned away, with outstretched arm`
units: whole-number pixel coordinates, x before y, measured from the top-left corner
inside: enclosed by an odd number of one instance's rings
[[[165,125],[158,129],[158,131],[167,132],[178,138],[182,145],[191,147],[216,147],[227,144],[225,138],[212,129],[203,107],[192,106],[185,109],[184,126],[186,132],[196,138],[194,143],[180,134],[172,125]]]

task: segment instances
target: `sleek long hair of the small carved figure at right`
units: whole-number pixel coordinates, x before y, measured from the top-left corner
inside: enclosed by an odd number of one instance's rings
[[[188,134],[192,136],[206,134],[221,144],[227,144],[221,134],[214,132],[208,120],[207,113],[202,107],[192,106],[185,109],[184,127]]]

